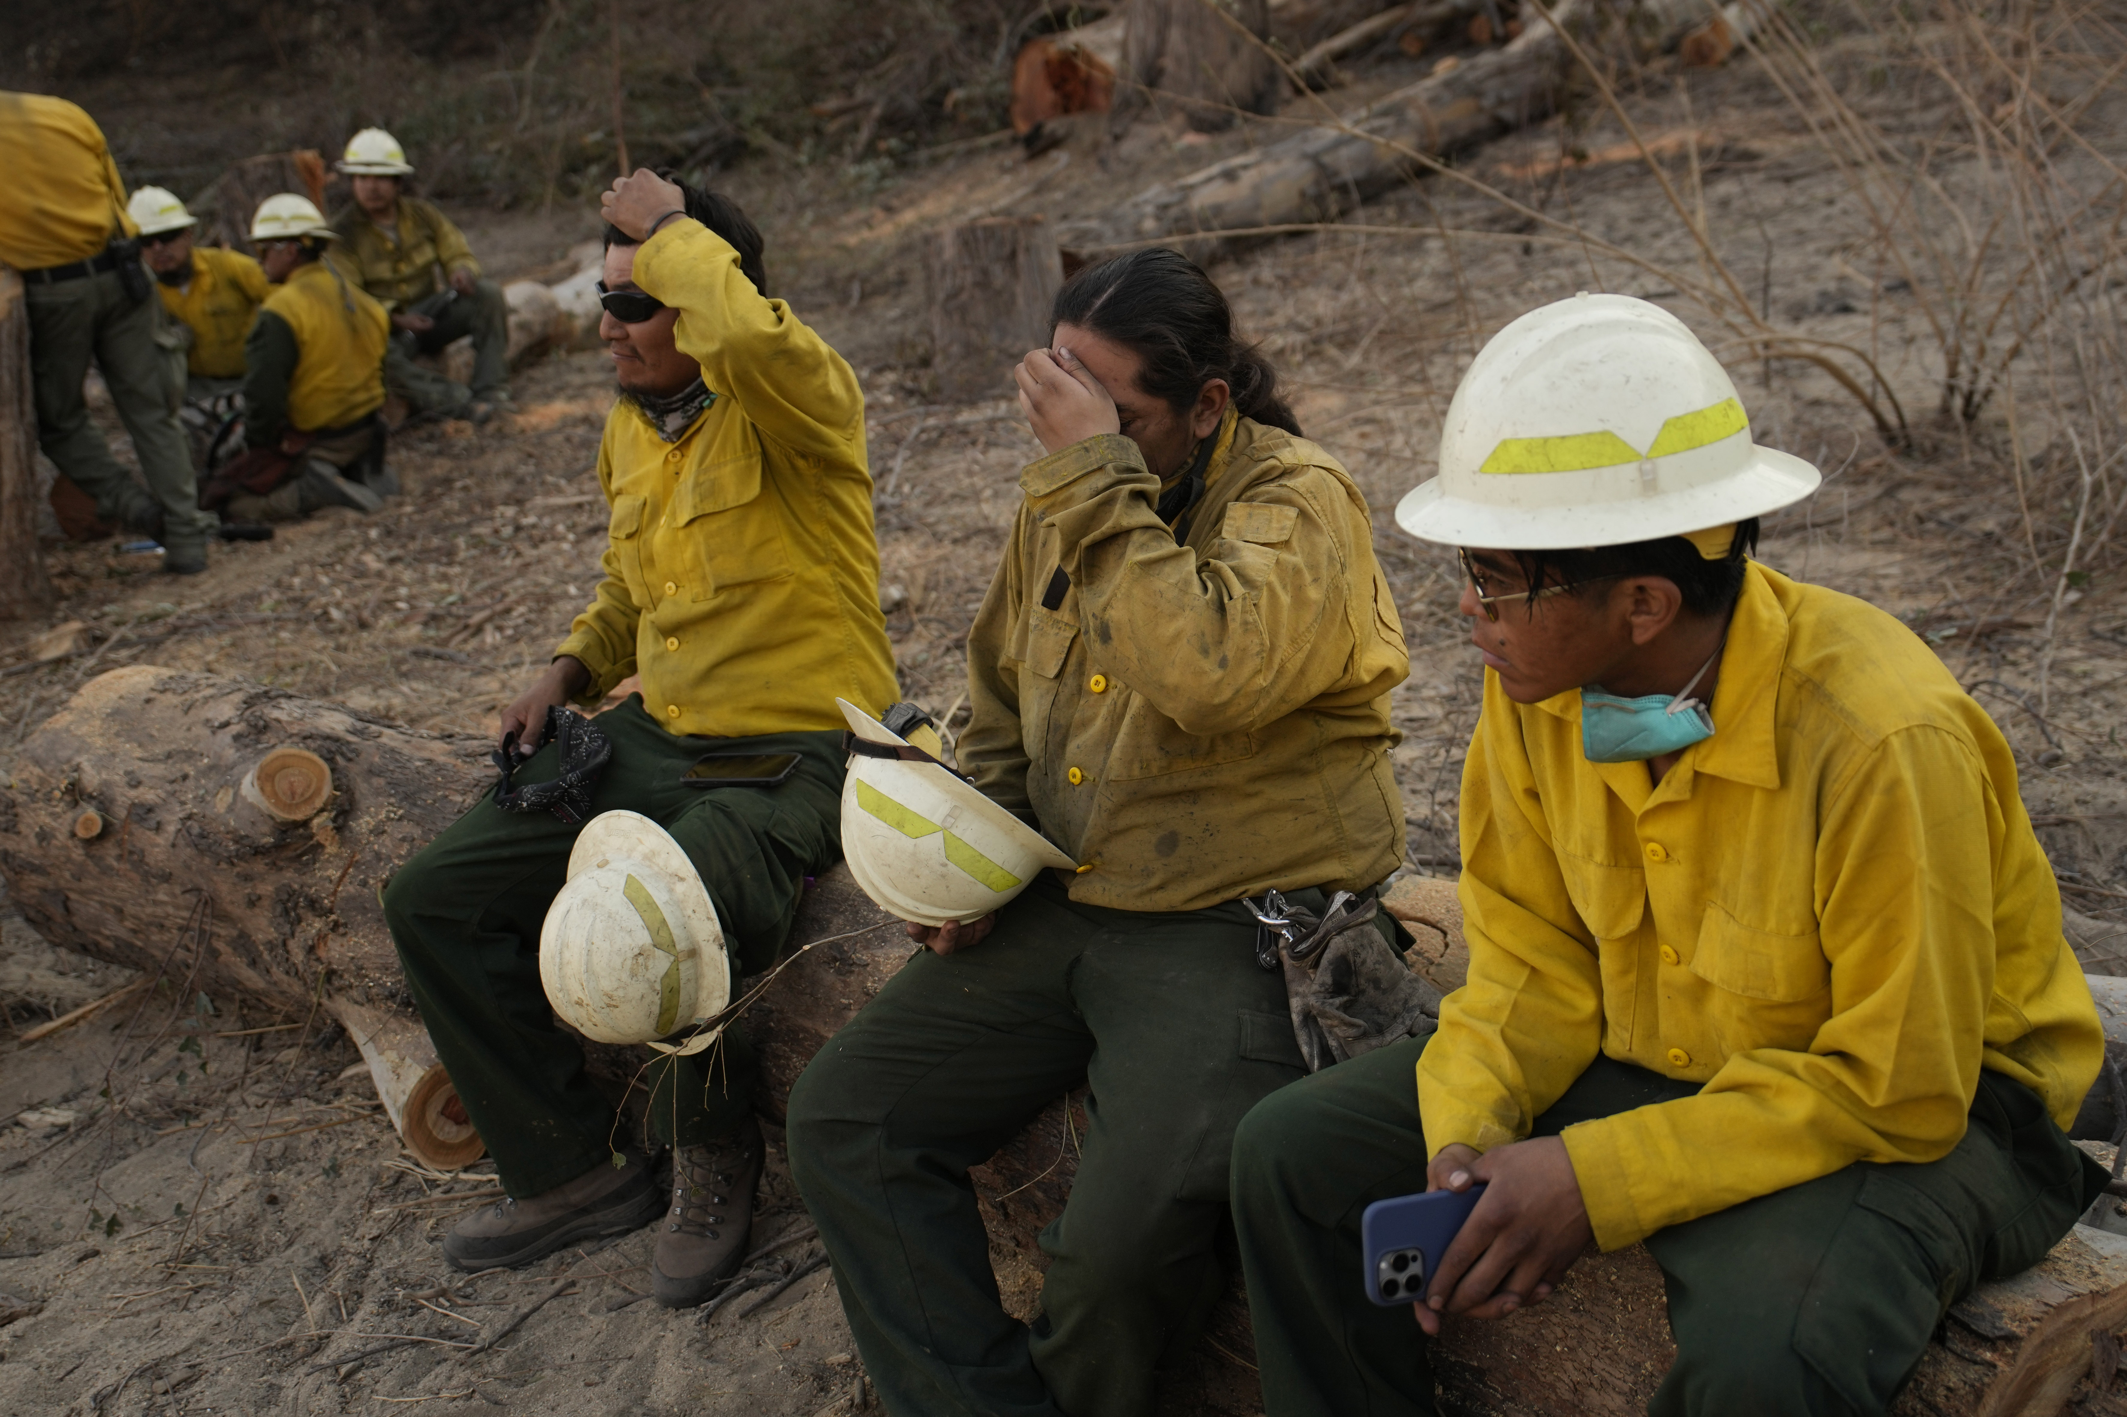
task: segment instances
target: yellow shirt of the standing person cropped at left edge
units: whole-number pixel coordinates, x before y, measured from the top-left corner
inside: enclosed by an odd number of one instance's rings
[[[0,266],[68,266],[138,232],[104,130],[64,98],[0,93]]]

